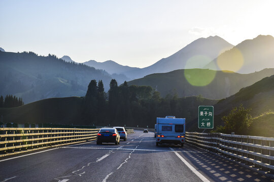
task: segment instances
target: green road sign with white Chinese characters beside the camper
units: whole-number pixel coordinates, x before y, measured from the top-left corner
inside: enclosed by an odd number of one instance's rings
[[[198,128],[213,129],[213,106],[199,106]]]

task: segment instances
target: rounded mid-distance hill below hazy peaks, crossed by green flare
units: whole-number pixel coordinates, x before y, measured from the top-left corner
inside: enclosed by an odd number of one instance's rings
[[[174,89],[179,97],[202,95],[209,99],[223,99],[239,91],[239,89],[252,85],[266,76],[274,75],[274,69],[264,69],[250,74],[234,72],[213,71],[208,69],[187,70],[190,79],[203,80],[210,75],[215,75],[211,83],[205,86],[193,86],[185,77],[184,69],[168,73],[155,73],[144,78],[129,81],[129,85],[149,85],[156,88],[161,96],[172,93]]]

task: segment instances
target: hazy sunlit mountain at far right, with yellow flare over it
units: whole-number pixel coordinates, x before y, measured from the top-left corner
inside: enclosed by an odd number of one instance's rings
[[[274,68],[274,37],[259,35],[254,39],[244,40],[203,68],[244,74]]]

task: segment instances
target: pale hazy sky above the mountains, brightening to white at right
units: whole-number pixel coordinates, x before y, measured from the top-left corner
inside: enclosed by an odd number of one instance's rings
[[[274,36],[273,8],[271,0],[0,0],[0,47],[146,67],[199,37],[235,45]]]

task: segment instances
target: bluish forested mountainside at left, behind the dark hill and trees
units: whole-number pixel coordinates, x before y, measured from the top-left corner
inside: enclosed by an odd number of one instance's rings
[[[0,95],[21,97],[25,104],[46,98],[85,96],[92,79],[102,80],[106,90],[112,78],[120,84],[125,80],[121,75],[32,52],[0,52],[0,67]]]

